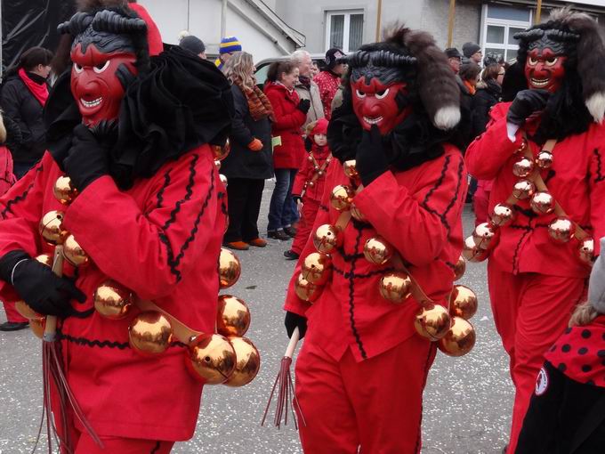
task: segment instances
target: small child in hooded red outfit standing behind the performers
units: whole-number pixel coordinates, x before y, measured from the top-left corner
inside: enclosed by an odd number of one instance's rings
[[[319,118],[318,121],[310,123],[307,132],[307,145],[311,150],[296,174],[292,187],[292,198],[298,205],[301,222],[292,247],[284,252],[288,260],[297,259],[309,239],[324,193],[327,166],[332,159],[332,153],[327,147],[327,119]]]

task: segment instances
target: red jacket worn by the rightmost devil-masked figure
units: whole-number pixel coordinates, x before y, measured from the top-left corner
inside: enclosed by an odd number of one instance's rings
[[[490,124],[485,133],[471,143],[466,151],[469,172],[482,180],[494,179],[489,196],[489,212],[512,193],[518,180],[512,174],[512,165],[519,160],[514,155],[520,147],[521,132],[515,142],[506,135],[506,113],[510,103],[496,104],[490,112]],[[534,156],[540,147],[529,142]],[[592,123],[585,134],[576,134],[557,142],[553,150],[553,166],[542,171],[548,191],[563,210],[595,239],[605,236],[605,125]],[[528,200],[520,200],[520,207],[533,214]],[[500,231],[500,243],[492,252],[504,270],[512,273],[539,272],[542,274],[584,278],[590,267],[580,262],[577,241],[555,243],[548,235],[548,224],[556,215],[531,216],[517,212],[511,226]],[[599,242],[594,242],[595,254]]]

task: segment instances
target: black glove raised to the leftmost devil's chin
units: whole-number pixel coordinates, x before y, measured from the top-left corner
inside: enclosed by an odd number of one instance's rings
[[[78,125],[74,128],[69,156],[63,160],[63,168],[78,191],[84,191],[97,178],[109,174],[108,155],[108,148],[88,127]]]

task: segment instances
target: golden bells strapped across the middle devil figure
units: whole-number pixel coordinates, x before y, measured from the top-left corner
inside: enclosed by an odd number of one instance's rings
[[[336,211],[350,211],[351,217],[365,223],[366,218],[353,203],[356,188],[360,184],[355,161],[346,161],[343,167],[351,185],[336,186],[332,191],[330,203]],[[323,224],[317,228],[313,233],[313,245],[317,252],[307,255],[303,261],[301,272],[294,283],[297,296],[311,303],[319,298],[332,275],[331,254],[342,244],[343,231],[338,225]],[[384,265],[397,254],[380,236],[367,239],[363,252],[366,260],[375,265]],[[456,263],[456,280],[463,276],[465,268],[464,257],[460,256]],[[415,288],[419,288],[417,283],[404,271],[385,272],[378,284],[380,295],[393,304],[407,301]],[[420,336],[438,342],[438,347],[443,353],[462,356],[469,353],[475,344],[475,330],[468,320],[477,312],[477,304],[477,296],[470,288],[457,285],[450,294],[449,310],[440,304],[421,303],[422,307],[415,317],[415,329]]]

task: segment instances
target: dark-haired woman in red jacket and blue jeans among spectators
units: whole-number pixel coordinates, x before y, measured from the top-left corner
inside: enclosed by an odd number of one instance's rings
[[[292,185],[305,156],[301,127],[311,107],[311,101],[299,98],[294,90],[297,81],[298,66],[294,61],[275,61],[270,65],[264,85],[264,92],[275,113],[271,133],[277,142],[273,148],[276,182],[267,226],[267,236],[272,239],[286,240],[296,235],[292,227],[297,219],[293,214],[296,207],[292,200]],[[290,199],[294,209],[286,204],[287,199]]]

